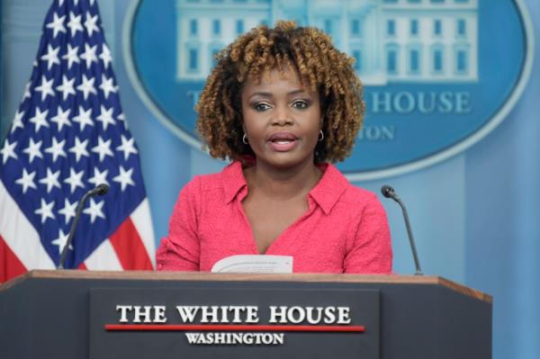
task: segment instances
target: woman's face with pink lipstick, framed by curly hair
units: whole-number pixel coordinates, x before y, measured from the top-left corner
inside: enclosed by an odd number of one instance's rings
[[[242,90],[244,132],[257,164],[292,168],[313,163],[321,115],[319,94],[302,85],[291,67],[277,68]]]

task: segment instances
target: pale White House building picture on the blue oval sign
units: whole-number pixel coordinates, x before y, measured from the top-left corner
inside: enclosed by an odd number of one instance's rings
[[[293,19],[329,33],[365,85],[476,82],[476,1],[177,1],[176,78],[204,81],[244,31]],[[308,15],[309,13],[309,15]]]

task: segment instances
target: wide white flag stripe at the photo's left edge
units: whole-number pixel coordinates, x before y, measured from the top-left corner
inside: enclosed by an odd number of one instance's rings
[[[9,216],[6,213],[9,213]],[[56,267],[41,245],[38,231],[24,216],[2,181],[0,181],[0,235],[27,269]]]

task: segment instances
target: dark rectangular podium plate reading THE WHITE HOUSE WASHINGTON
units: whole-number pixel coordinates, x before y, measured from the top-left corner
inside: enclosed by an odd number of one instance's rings
[[[92,289],[90,359],[378,359],[379,291]]]

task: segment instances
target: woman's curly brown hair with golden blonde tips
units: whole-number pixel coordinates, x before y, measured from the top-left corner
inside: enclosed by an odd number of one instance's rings
[[[254,156],[242,142],[243,85],[274,68],[284,74],[287,66],[320,95],[324,140],[315,148],[314,161],[337,162],[350,154],[364,120],[363,89],[352,67],[354,58],[334,48],[327,34],[295,22],[276,22],[273,29],[261,25],[222,49],[216,59],[196,106],[197,130],[211,157]]]

